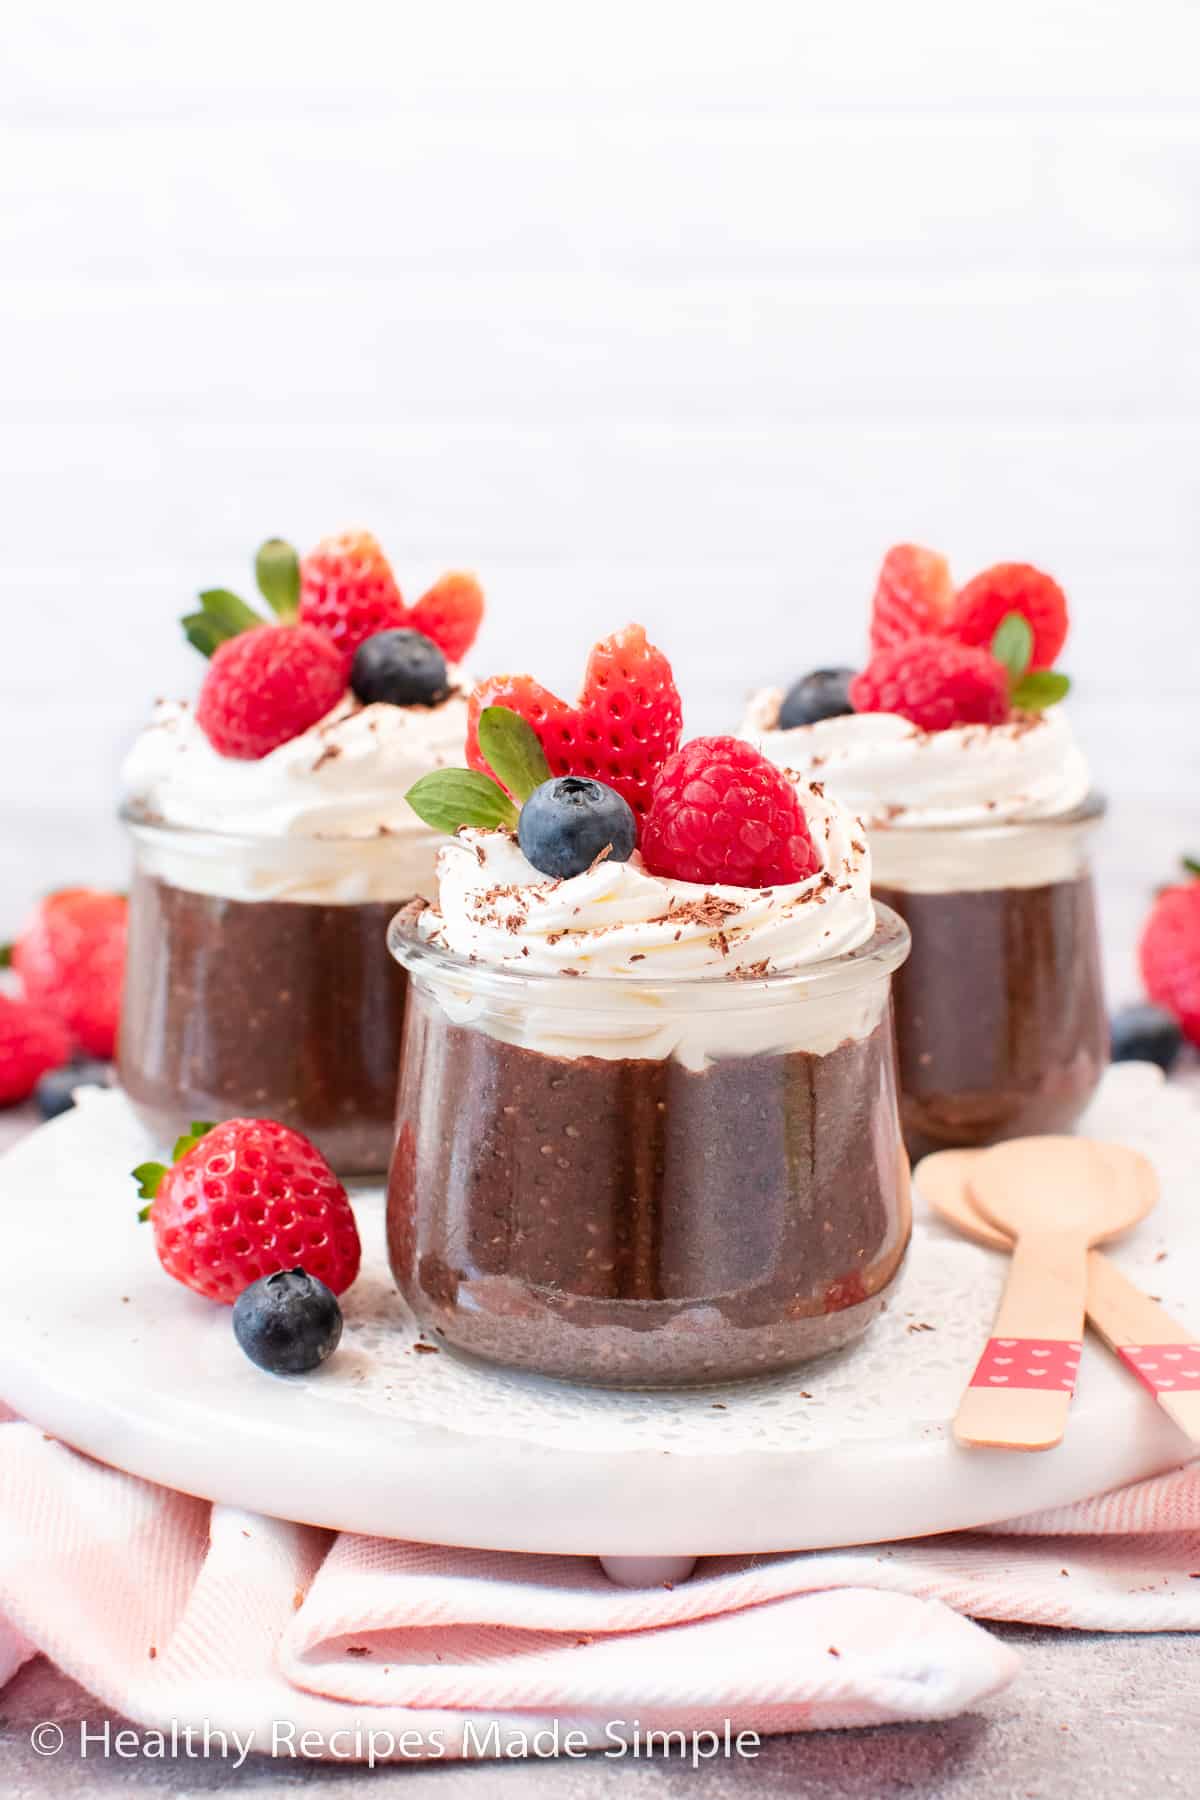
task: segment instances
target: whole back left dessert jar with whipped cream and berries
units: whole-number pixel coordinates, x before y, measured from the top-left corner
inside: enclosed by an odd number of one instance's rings
[[[160,1139],[266,1116],[338,1174],[381,1174],[407,992],[387,925],[434,891],[439,842],[403,794],[461,758],[468,720],[426,630],[461,653],[479,590],[452,578],[405,608],[362,535],[302,567],[266,545],[259,578],[277,623],[201,596],[200,698],[160,702],[124,767],[121,1082]]]

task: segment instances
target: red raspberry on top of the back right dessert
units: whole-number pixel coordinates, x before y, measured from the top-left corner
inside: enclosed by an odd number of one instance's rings
[[[849,684],[849,698],[856,713],[898,713],[921,731],[1000,725],[1009,716],[1004,666],[952,637],[910,637],[876,650]]]

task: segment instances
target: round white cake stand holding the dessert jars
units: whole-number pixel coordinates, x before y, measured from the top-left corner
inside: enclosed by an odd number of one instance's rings
[[[1087,1130],[1144,1150],[1164,1199],[1119,1262],[1200,1327],[1200,1112],[1155,1069],[1110,1073]],[[275,1379],[230,1312],[171,1282],[128,1170],[149,1148],[92,1091],[0,1159],[0,1397],[117,1469],[338,1530],[601,1555],[619,1580],[696,1555],[828,1548],[988,1525],[1155,1474],[1187,1440],[1088,1343],[1065,1444],[963,1451],[948,1420],[988,1337],[1002,1260],[921,1217],[865,1343],[797,1375],[619,1393],[419,1352],[383,1256],[381,1195],[356,1210],[363,1273],[342,1348]]]

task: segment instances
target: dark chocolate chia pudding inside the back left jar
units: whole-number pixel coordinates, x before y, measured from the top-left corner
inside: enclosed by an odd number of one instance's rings
[[[394,911],[232,900],[139,873],[121,1080],[155,1138],[193,1118],[272,1118],[338,1170],[385,1170],[407,988],[387,950]]]

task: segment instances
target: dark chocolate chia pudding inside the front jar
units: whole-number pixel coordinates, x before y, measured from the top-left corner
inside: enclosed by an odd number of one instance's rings
[[[878,1314],[909,1242],[891,1015],[828,1055],[691,1071],[416,1013],[389,1255],[448,1345],[666,1386],[788,1368]]]

